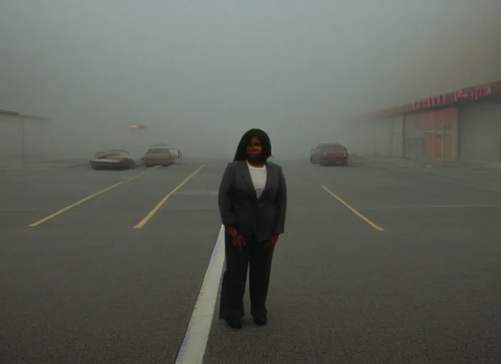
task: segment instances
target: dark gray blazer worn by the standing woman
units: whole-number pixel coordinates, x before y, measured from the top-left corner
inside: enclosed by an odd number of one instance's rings
[[[267,177],[258,198],[250,178],[247,161],[226,166],[219,186],[219,214],[225,226],[233,226],[246,237],[258,241],[284,232],[287,186],[282,167],[266,162]]]

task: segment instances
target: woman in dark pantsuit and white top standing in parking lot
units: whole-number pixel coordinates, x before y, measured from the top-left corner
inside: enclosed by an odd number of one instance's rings
[[[265,303],[271,261],[278,237],[284,232],[287,210],[282,167],[268,161],[270,156],[268,134],[250,129],[238,143],[219,186],[219,213],[226,230],[219,319],[232,328],[242,327],[248,267],[250,314],[256,325],[268,323]]]

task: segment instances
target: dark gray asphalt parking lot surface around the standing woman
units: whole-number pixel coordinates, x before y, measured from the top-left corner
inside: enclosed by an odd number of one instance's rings
[[[1,363],[174,363],[225,165],[0,171]],[[501,171],[283,168],[268,326],[214,316],[204,363],[501,362]]]

